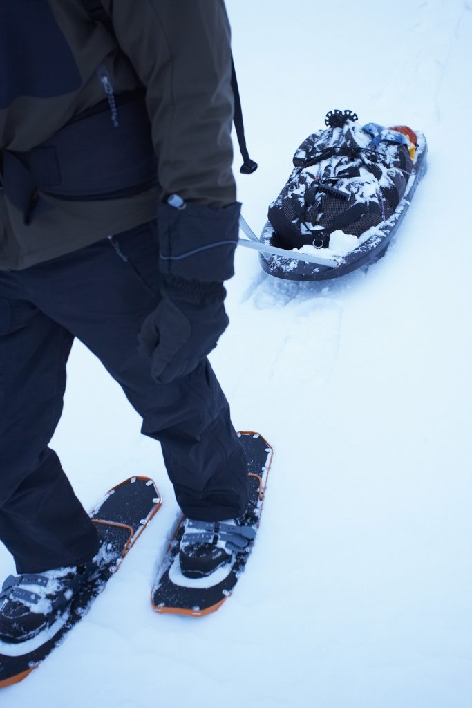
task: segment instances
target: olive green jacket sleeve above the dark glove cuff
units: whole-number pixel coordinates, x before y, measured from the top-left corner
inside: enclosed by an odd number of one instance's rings
[[[103,0],[146,89],[164,193],[224,207],[231,171],[231,38],[223,0]]]

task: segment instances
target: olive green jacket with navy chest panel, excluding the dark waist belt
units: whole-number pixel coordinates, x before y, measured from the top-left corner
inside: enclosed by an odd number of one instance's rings
[[[105,71],[114,96],[144,85],[161,188],[90,201],[40,193],[54,208],[28,225],[0,189],[0,269],[26,268],[149,221],[162,193],[214,207],[236,199],[224,1],[103,6],[113,34],[81,0],[0,0],[0,149],[28,152],[103,102]]]

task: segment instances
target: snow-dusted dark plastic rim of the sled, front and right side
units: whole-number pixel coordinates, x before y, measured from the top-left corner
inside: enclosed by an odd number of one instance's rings
[[[374,234],[363,244],[358,246],[357,249],[346,253],[345,256],[336,256],[338,265],[334,268],[328,265],[316,265],[306,261],[294,260],[294,258],[284,258],[283,256],[265,256],[264,253],[260,253],[260,264],[263,270],[269,275],[274,275],[275,278],[283,278],[284,280],[329,280],[331,278],[339,278],[341,275],[347,275],[347,273],[351,273],[352,270],[357,270],[357,268],[362,268],[362,266],[371,265],[371,263],[378,261],[381,256],[384,256],[392,236],[396,233],[405,217],[418,183],[426,172],[426,138],[418,131],[416,131],[416,135],[418,136],[418,147],[415,152],[413,171],[408,180],[405,194],[391,217],[381,222],[375,229],[372,229]],[[260,236],[260,241],[269,246],[273,245],[273,234],[272,224],[267,222]],[[321,255],[330,255],[328,249],[320,249],[320,253]]]

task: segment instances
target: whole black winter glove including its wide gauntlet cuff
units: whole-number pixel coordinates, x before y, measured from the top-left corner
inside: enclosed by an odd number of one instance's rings
[[[223,281],[234,273],[240,208],[185,204],[178,195],[158,206],[162,300],[138,338],[157,382],[190,374],[228,326]]]

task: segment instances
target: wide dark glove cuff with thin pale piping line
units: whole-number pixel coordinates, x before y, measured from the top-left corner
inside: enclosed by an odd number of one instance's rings
[[[213,208],[187,203],[158,205],[159,268],[186,280],[223,282],[234,275],[241,204]]]

